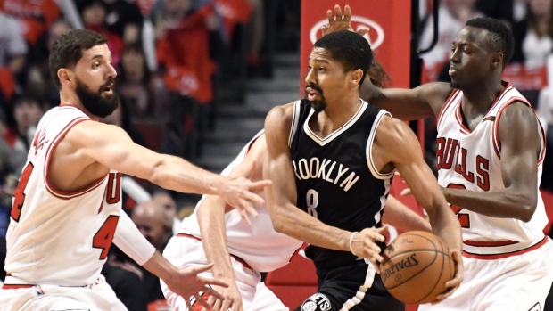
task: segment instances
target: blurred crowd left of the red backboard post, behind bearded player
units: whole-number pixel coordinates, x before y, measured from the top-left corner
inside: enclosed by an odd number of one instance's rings
[[[120,108],[103,122],[194,162],[218,105],[243,102],[248,78],[271,78],[275,52],[299,50],[299,14],[296,0],[0,0],[0,266],[12,193],[37,123],[60,104],[48,69],[57,37],[69,29],[106,37]],[[147,193],[141,201],[124,194],[124,209],[162,250],[192,208],[177,208],[175,193],[152,184],[128,183]],[[103,274],[129,310],[162,298],[153,274],[117,249],[109,264]]]

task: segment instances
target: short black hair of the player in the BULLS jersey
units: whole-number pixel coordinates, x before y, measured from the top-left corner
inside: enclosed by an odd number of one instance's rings
[[[475,27],[478,29],[488,30],[488,36],[491,49],[493,52],[503,53],[503,68],[513,57],[515,49],[515,38],[504,22],[490,17],[479,17],[473,20],[466,21],[465,26]]]

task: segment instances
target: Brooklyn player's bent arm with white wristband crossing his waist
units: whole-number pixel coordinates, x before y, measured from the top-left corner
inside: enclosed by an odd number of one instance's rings
[[[265,191],[268,212],[276,232],[330,250],[350,251],[351,232],[326,225],[298,209],[295,176],[288,148],[292,123],[292,105],[273,108],[265,121],[268,156],[263,177],[273,181]],[[376,229],[365,229],[355,235],[355,255],[372,261],[382,260],[374,241],[384,241]]]

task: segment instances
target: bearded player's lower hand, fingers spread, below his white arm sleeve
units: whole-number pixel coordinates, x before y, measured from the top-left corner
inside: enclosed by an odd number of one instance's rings
[[[210,308],[207,301],[202,298],[200,292],[208,294],[210,297],[225,299],[218,291],[213,290],[209,285],[228,287],[226,282],[210,279],[198,274],[210,270],[213,264],[194,266],[186,269],[179,269],[176,274],[172,274],[169,279],[164,279],[169,290],[181,297],[194,297],[203,307]],[[192,304],[189,299],[185,299],[186,307],[192,310]]]

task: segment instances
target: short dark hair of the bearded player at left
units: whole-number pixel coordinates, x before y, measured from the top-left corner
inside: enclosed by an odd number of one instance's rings
[[[50,76],[59,89],[62,82],[58,78],[58,70],[75,66],[83,57],[83,52],[96,45],[103,45],[107,39],[92,30],[71,29],[58,37],[52,45],[48,66]]]

